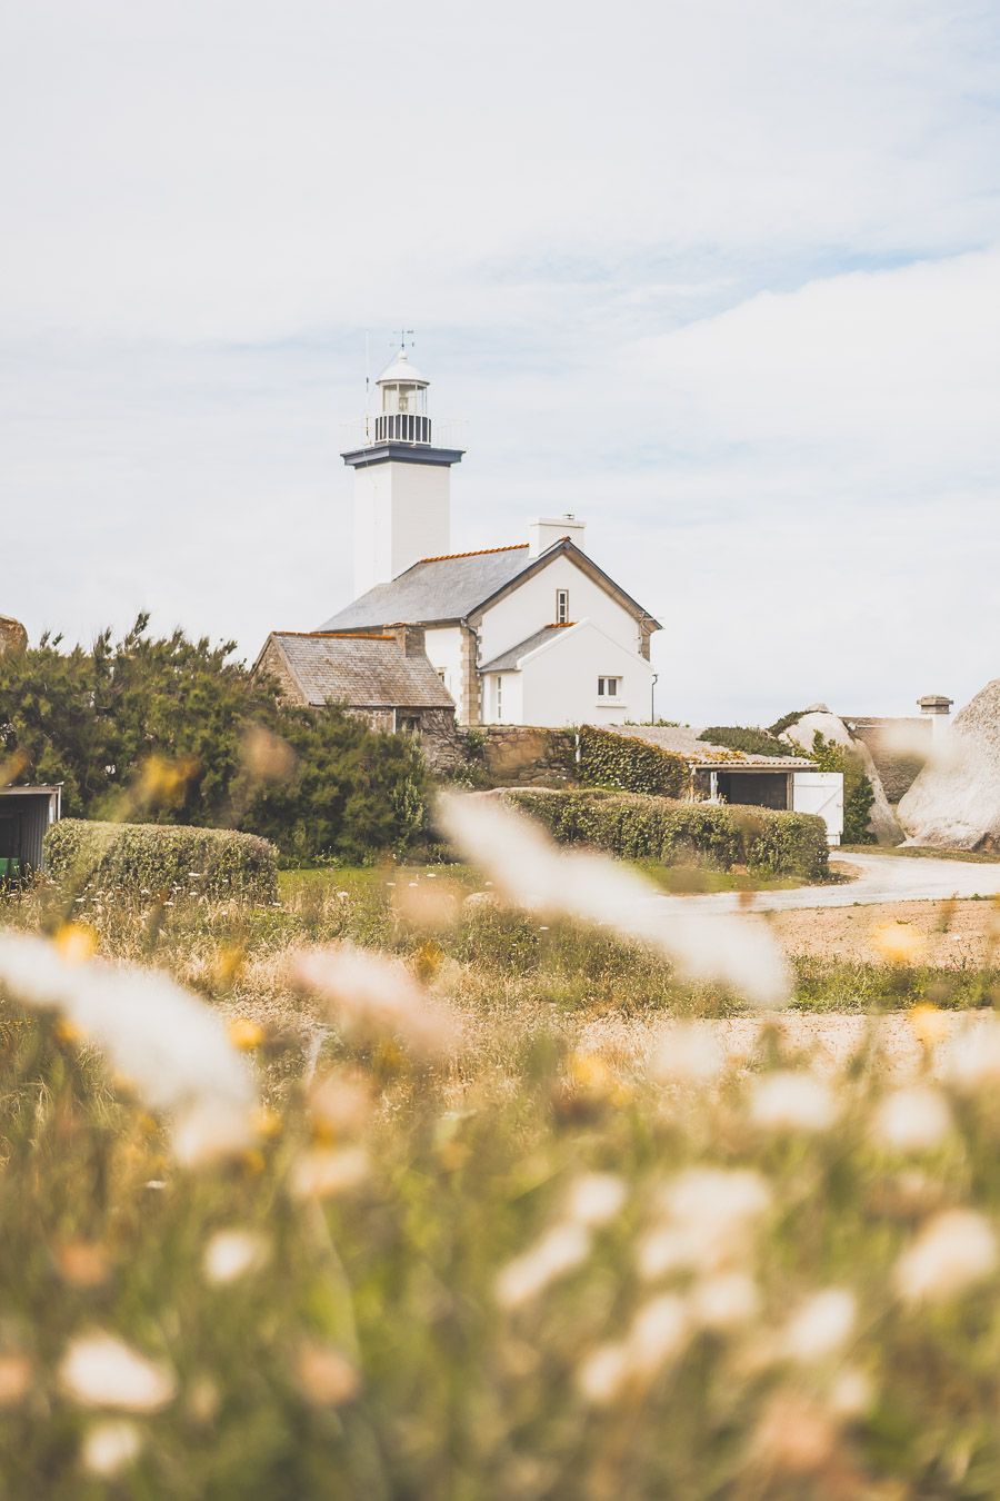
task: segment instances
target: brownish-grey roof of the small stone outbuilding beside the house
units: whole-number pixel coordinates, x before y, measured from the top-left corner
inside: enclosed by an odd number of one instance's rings
[[[454,708],[427,657],[406,656],[394,636],[301,635],[273,630],[307,704],[351,708]]]

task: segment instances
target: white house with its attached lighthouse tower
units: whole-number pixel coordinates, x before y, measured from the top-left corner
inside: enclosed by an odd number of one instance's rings
[[[426,377],[400,350],[378,380],[381,411],[343,453],[354,470],[357,597],[319,629],[424,627],[462,723],[646,719],[660,623],[583,551],[573,515],[526,542],[451,552],[451,465],[433,443]]]

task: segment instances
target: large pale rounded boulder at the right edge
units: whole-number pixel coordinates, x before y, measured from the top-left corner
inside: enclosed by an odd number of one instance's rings
[[[1000,851],[1000,677],[955,716],[900,821],[909,844]]]

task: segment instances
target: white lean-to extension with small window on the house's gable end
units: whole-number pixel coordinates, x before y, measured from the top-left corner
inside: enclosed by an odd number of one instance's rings
[[[649,713],[652,668],[588,620],[522,657],[519,671],[484,677],[486,723],[618,725]],[[498,677],[504,678],[499,717]],[[613,678],[616,692],[598,693],[598,677]]]

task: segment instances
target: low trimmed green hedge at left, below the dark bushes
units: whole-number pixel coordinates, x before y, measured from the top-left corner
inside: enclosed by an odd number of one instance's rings
[[[54,880],[79,892],[157,896],[175,889],[213,901],[277,901],[277,850],[256,835],[174,824],[103,824],[63,818],[45,836]]]

